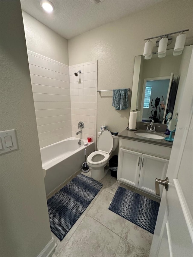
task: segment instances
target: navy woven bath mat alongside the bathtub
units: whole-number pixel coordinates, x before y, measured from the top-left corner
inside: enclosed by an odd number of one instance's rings
[[[78,174],[48,201],[49,222],[52,232],[62,240],[103,184]]]

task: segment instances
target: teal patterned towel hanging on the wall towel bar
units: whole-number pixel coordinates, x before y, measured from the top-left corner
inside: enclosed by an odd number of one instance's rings
[[[113,89],[112,90],[112,106],[116,110],[124,110],[128,108],[128,89]]]

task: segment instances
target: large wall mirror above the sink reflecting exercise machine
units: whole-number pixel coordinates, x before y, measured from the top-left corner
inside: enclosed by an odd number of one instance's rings
[[[156,53],[149,60],[135,56],[131,110],[138,111],[137,121],[166,123],[169,112],[177,118],[191,51],[192,45],[177,56],[173,49],[163,58]]]

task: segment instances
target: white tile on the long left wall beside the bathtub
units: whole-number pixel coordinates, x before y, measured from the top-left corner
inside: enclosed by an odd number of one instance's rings
[[[28,59],[38,136],[44,147],[72,135],[70,71],[67,65],[33,52]]]

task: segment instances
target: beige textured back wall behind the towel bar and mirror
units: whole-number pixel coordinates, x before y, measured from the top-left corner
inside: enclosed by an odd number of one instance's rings
[[[69,65],[98,60],[98,89],[132,88],[134,57],[143,54],[144,39],[185,28],[192,44],[192,1],[162,1],[68,40]],[[121,132],[129,111],[112,107],[112,92],[97,93],[97,131],[105,122],[109,130]]]

